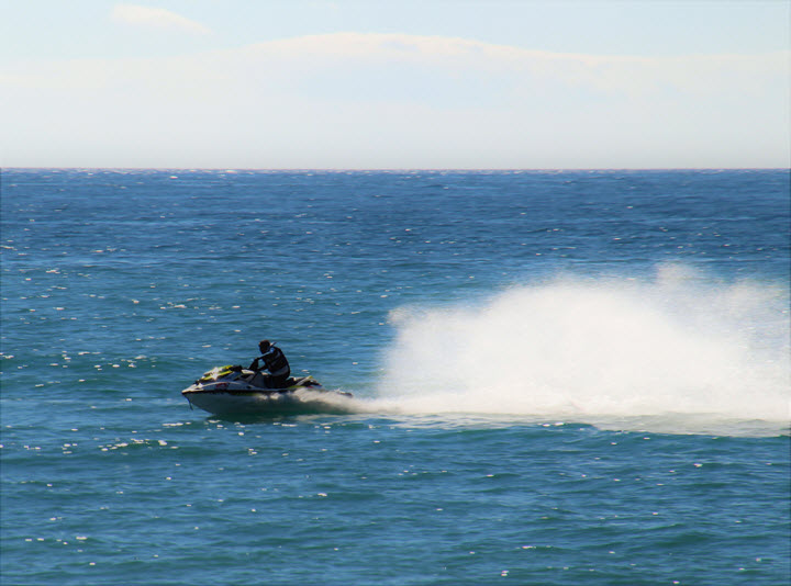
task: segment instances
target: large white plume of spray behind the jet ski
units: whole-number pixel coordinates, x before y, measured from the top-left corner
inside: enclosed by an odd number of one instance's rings
[[[379,396],[402,413],[631,418],[687,432],[789,421],[788,291],[776,285],[671,266],[653,280],[556,278],[390,317]]]

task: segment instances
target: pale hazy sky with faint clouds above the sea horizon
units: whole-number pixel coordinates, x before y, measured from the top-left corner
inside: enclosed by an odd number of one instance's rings
[[[0,0],[0,167],[788,168],[789,0]]]

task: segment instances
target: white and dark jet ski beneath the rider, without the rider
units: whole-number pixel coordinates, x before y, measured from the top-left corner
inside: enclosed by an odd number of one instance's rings
[[[303,415],[349,413],[352,393],[324,388],[313,376],[289,377],[271,388],[271,377],[238,365],[215,367],[181,391],[192,406],[214,415]]]

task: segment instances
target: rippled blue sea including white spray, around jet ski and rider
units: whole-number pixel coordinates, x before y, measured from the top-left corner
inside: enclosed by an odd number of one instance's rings
[[[791,579],[786,170],[0,188],[3,585]],[[190,410],[261,338],[354,401]]]

